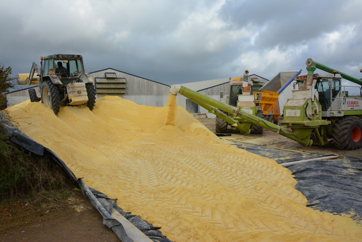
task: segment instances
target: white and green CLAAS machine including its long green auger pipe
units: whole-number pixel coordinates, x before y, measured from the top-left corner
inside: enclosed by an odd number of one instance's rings
[[[327,145],[331,142],[344,150],[360,149],[362,146],[362,81],[333,68],[307,59],[307,75],[296,76],[292,97],[283,107],[283,120],[274,124],[182,85],[172,85],[170,94],[181,95],[214,113],[241,133],[249,133],[248,127],[233,117],[283,135],[304,146]],[[314,74],[316,69],[328,73]],[[342,85],[342,78],[357,86]],[[349,93],[356,95],[349,95]],[[226,115],[232,114],[232,117]]]

